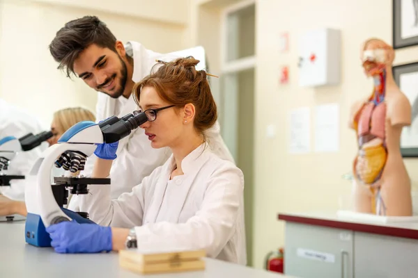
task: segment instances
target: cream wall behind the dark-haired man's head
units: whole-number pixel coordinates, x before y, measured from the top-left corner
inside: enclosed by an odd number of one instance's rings
[[[27,109],[46,126],[59,108],[82,105],[94,111],[96,92],[56,70],[48,50],[65,22],[84,15],[100,17],[119,40],[136,40],[154,51],[192,46],[183,36],[182,24],[38,1],[0,0],[0,97]]]

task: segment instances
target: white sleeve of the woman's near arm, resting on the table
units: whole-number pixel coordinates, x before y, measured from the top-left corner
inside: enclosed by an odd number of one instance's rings
[[[203,185],[202,185],[203,186]],[[208,180],[201,209],[185,223],[157,222],[136,227],[138,248],[206,250],[216,257],[232,238],[242,206],[244,177],[236,167],[217,170]]]

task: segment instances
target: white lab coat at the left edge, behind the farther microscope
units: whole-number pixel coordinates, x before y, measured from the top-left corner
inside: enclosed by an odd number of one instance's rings
[[[0,99],[0,139],[6,136],[20,138],[27,133],[35,135],[45,131],[45,128],[46,126],[43,126],[33,115],[29,115],[23,109]],[[10,199],[24,201],[26,184],[36,186],[34,181],[30,179],[29,172],[33,163],[47,147],[47,142],[43,142],[39,147],[31,149],[29,152],[17,154],[10,162],[7,174],[21,174],[26,179],[15,179],[10,181],[10,186],[0,186],[0,193]]]

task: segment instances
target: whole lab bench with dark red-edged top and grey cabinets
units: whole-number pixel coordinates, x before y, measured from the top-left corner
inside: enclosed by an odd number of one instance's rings
[[[418,222],[376,222],[337,213],[279,213],[284,273],[304,278],[418,277]]]

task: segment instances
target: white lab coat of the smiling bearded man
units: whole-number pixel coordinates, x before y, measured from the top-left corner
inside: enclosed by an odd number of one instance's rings
[[[132,80],[139,82],[151,70],[157,70],[153,67],[156,59],[172,60],[176,58],[173,54],[159,54],[157,52],[146,49],[139,42],[127,42],[125,46],[132,50],[134,60],[134,71]],[[116,104],[118,99],[113,99],[102,92],[98,93],[98,102],[96,105],[96,119],[97,121],[107,119],[115,115]],[[123,116],[132,111],[138,110],[138,106],[134,101],[133,94],[130,96],[121,108],[118,116]],[[216,122],[212,129],[206,133],[206,140],[208,140],[210,147],[215,154],[226,160],[232,161],[233,156],[226,147],[224,140],[220,135],[219,123]],[[141,183],[144,177],[148,176],[153,170],[164,164],[171,155],[169,148],[153,149],[145,136],[144,129],[138,128],[129,136],[119,141],[118,151],[116,152],[118,158],[114,161],[111,167],[111,197],[116,199],[119,195],[125,192],[130,192],[132,187]],[[83,174],[90,176],[93,171],[93,164],[95,157],[91,156],[87,159],[86,170]],[[79,211],[78,201],[79,196],[72,196],[69,208],[73,211]]]

